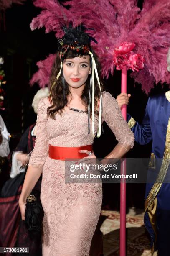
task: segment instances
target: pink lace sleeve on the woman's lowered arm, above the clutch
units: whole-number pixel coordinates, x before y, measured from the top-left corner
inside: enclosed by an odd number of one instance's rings
[[[47,108],[45,99],[41,99],[38,104],[37,114],[37,133],[36,143],[30,157],[29,166],[43,168],[47,154],[48,154],[48,136],[47,136]]]

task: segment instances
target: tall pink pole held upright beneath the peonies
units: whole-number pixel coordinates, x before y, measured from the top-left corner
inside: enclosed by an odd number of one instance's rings
[[[127,66],[122,69],[121,91],[127,93]],[[122,115],[127,120],[126,105],[122,106]],[[126,159],[121,162],[121,174],[126,174]],[[126,181],[120,182],[120,256],[126,256]]]

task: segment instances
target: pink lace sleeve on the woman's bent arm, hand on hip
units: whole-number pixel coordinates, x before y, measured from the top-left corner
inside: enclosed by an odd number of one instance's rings
[[[132,148],[134,145],[134,135],[122,117],[117,101],[109,92],[103,92],[102,100],[103,120],[116,136],[118,144],[130,145]]]

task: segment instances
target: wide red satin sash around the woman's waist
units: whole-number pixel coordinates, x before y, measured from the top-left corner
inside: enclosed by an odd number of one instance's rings
[[[83,158],[88,156],[86,153],[80,153],[78,150],[86,149],[92,152],[92,145],[80,147],[56,147],[49,144],[49,157],[56,160],[66,160],[69,158]]]

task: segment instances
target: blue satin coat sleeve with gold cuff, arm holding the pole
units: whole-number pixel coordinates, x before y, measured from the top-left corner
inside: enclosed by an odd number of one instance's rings
[[[132,132],[134,133],[134,138],[137,143],[144,145],[152,140],[152,132],[150,128],[150,115],[149,115],[150,98],[147,102],[145,109],[145,116],[142,120],[142,124],[135,121],[131,115],[127,114],[127,122]]]

